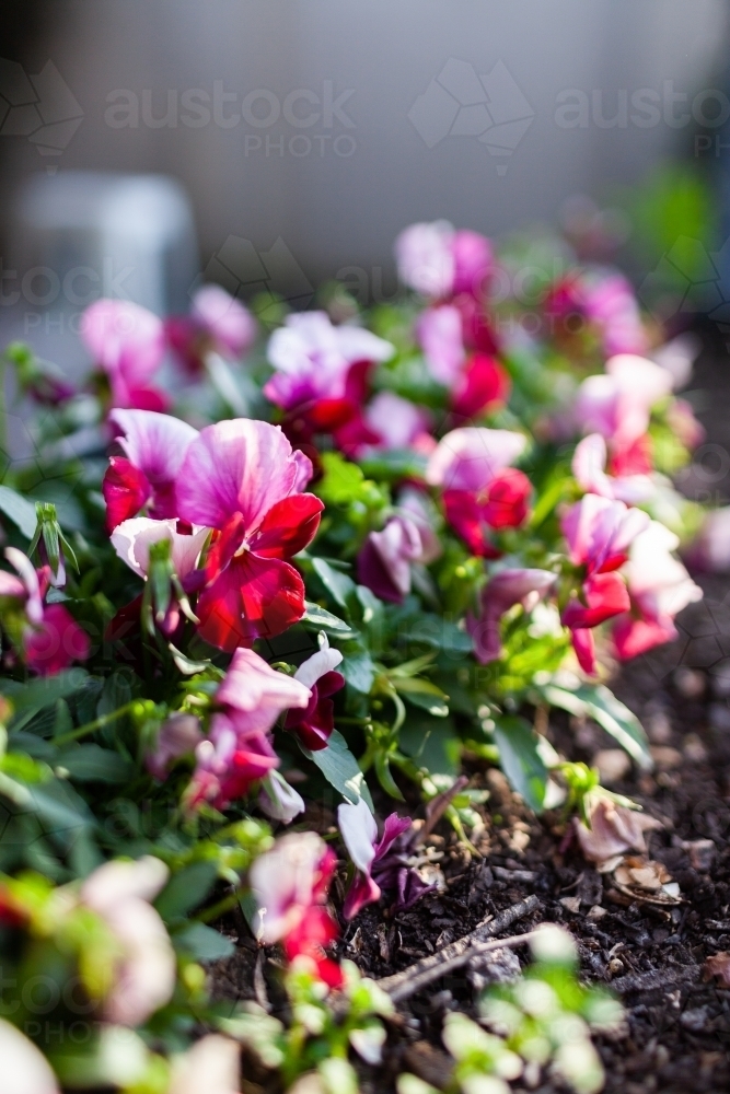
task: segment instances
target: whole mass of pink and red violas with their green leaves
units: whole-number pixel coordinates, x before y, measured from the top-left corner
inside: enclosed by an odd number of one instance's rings
[[[304,313],[216,286],[165,321],[100,300],[81,386],[7,350],[27,451],[0,486],[0,1045],[34,1094],[223,1094],[252,1037],[285,1085],[355,1089],[389,1009],[333,946],[429,887],[406,798],[464,839],[483,823],[464,755],[631,846],[630,803],[538,730],[558,707],[650,764],[605,680],[700,596],[672,485],[702,435],[673,394],[693,347],[552,246],[413,225],[408,291],[367,313],[341,286]],[[211,1001],[232,910],[279,947],[285,1024]],[[598,1089],[567,1059],[598,1074],[581,992],[538,965],[485,1003],[506,1033],[450,1019],[454,1081],[477,1090],[496,1038]]]

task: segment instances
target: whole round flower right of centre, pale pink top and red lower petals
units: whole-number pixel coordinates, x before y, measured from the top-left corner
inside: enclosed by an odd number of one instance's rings
[[[528,516],[532,486],[509,468],[525,444],[521,433],[465,427],[447,433],[429,459],[426,481],[443,488],[447,520],[474,555],[497,557],[487,529],[519,527]]]

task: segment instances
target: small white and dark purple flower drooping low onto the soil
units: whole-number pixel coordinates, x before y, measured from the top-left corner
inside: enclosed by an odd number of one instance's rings
[[[408,849],[397,847],[413,825],[410,817],[392,813],[379,839],[375,818],[367,802],[359,798],[357,804],[345,802],[337,807],[337,823],[356,868],[343,906],[345,919],[355,919],[366,905],[380,900],[383,891],[395,891],[398,911],[407,911],[431,888],[408,866]]]

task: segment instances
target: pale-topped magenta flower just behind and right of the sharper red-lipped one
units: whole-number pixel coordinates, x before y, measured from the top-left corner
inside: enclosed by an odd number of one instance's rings
[[[622,661],[673,641],[679,633],[674,617],[703,597],[702,589],[672,555],[679,546],[679,538],[659,521],[651,521],[631,544],[623,568],[630,610],[613,628]]]

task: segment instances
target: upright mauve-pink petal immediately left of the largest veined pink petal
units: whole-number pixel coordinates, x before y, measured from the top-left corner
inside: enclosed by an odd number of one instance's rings
[[[172,482],[179,472],[197,429],[179,418],[154,410],[120,410],[109,414],[111,423],[120,435],[118,442],[127,458],[144,472],[152,486]]]

